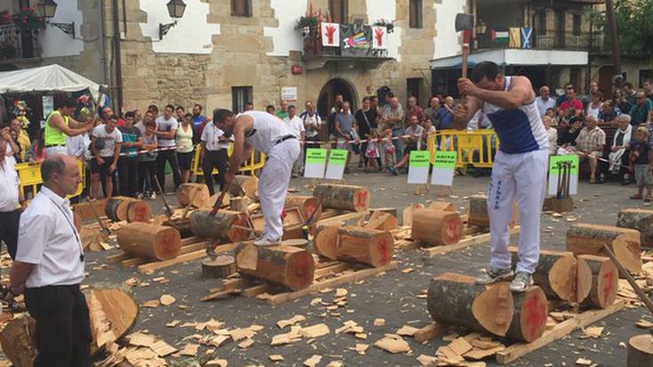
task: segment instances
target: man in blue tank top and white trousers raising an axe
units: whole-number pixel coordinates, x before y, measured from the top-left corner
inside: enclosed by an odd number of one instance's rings
[[[535,92],[525,76],[502,76],[498,65],[476,65],[471,80],[458,79],[466,103],[455,109],[454,125],[466,128],[478,110],[488,116],[501,141],[488,186],[490,215],[490,270],[476,279],[489,284],[514,275],[511,291],[526,291],[539,261],[539,214],[545,196],[548,139],[535,103]],[[513,273],[508,251],[508,224],[517,199],[522,232],[517,267]]]

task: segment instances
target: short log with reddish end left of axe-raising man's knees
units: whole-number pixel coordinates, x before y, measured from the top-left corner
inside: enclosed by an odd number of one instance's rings
[[[456,211],[415,209],[412,212],[413,240],[431,246],[453,244],[463,235],[463,221]]]

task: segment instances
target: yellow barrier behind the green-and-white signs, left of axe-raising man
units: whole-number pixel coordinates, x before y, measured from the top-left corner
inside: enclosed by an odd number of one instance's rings
[[[493,152],[499,147],[494,130],[441,130],[429,135],[426,148],[431,152],[431,164],[437,150],[456,151],[456,167],[466,164],[476,168],[491,168]]]

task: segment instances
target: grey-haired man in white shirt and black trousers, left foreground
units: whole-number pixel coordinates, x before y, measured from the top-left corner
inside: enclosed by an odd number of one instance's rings
[[[76,159],[47,157],[44,185],[20,217],[11,291],[25,293],[36,320],[34,365],[90,367],[89,310],[79,284],[84,281],[84,251],[66,195],[82,181]]]

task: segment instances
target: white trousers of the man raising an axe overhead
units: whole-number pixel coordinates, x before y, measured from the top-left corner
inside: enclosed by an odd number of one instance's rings
[[[519,261],[516,271],[534,273],[539,261],[539,220],[545,197],[548,150],[522,154],[497,153],[488,185],[490,266],[511,267],[508,225],[516,197],[519,210]]]

